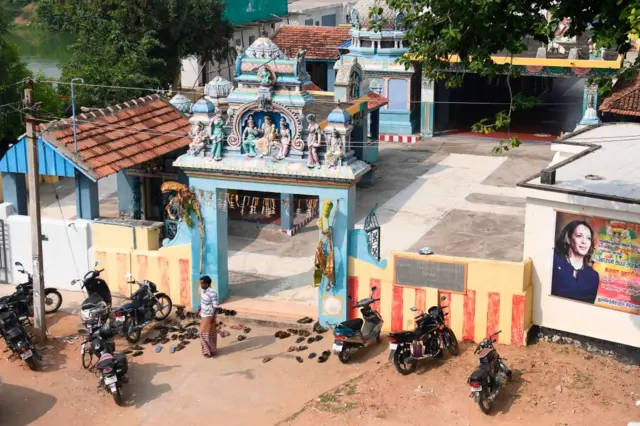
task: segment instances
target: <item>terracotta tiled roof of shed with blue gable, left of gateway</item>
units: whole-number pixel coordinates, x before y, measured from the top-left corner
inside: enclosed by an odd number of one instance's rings
[[[76,116],[78,155],[71,119],[42,126],[42,138],[94,179],[187,147],[189,121],[158,95]]]

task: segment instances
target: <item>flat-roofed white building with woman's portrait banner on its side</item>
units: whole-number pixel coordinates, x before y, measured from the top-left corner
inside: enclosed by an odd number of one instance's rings
[[[552,150],[519,184],[533,322],[640,347],[640,124],[581,129]]]

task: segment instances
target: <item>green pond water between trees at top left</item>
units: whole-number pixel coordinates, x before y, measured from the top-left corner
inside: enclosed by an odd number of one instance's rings
[[[62,73],[60,65],[71,56],[69,46],[75,37],[33,25],[16,25],[7,41],[18,45],[20,57],[31,71],[57,80]]]

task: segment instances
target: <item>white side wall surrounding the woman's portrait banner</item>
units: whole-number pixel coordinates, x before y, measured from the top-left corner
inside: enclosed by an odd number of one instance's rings
[[[548,191],[527,191],[530,196],[527,198],[524,256],[533,261],[534,324],[640,347],[640,315],[551,296],[556,212],[638,223],[640,206]],[[538,198],[534,198],[536,196]],[[540,199],[541,196],[549,199]]]

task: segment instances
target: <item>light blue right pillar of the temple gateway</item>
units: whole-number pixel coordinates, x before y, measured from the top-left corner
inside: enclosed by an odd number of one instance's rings
[[[340,190],[327,190],[320,194],[320,209],[324,200],[333,202],[333,211],[329,223],[333,226],[333,254],[335,261],[335,286],[326,290],[326,278],[319,287],[318,317],[322,325],[345,321],[347,319],[347,280],[349,262],[349,233],[355,223],[356,189],[355,186]],[[322,211],[320,211],[322,214]],[[340,307],[336,313],[336,307]]]

